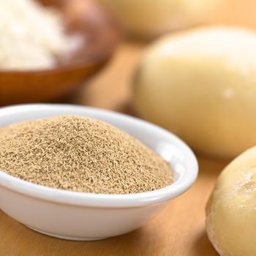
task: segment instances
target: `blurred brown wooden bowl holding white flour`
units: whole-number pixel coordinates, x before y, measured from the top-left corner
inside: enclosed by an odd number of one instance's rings
[[[67,33],[80,34],[83,43],[69,57],[61,56],[53,69],[0,70],[0,105],[45,102],[67,94],[103,67],[118,44],[120,34],[116,24],[94,1],[40,2],[58,8]]]

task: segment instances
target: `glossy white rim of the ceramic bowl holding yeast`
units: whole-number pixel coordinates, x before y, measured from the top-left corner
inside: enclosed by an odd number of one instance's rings
[[[162,133],[168,136],[172,143],[174,143],[184,153],[185,162],[190,166],[189,170],[184,171],[184,175],[174,181],[169,186],[157,189],[151,192],[142,192],[137,194],[93,194],[86,192],[72,192],[61,189],[54,189],[44,187],[42,185],[33,184],[29,181],[23,181],[20,178],[10,176],[0,170],[0,186],[5,187],[14,192],[22,195],[47,200],[54,203],[69,204],[73,206],[92,206],[97,208],[127,208],[127,207],[140,207],[148,206],[156,203],[164,203],[167,200],[173,199],[181,195],[195,182],[198,173],[198,164],[195,154],[187,146],[184,141],[173,135],[171,132],[151,124],[148,121],[141,120],[140,118],[127,116],[122,113],[116,113],[110,110],[103,110],[99,108],[91,108],[77,105],[62,105],[62,104],[25,104],[14,105],[10,107],[0,108],[0,120],[3,116],[8,116],[11,113],[28,113],[36,112],[37,110],[77,110],[78,112],[98,113],[108,118],[122,120],[126,122],[133,122],[140,124],[142,129],[151,129],[152,134]]]

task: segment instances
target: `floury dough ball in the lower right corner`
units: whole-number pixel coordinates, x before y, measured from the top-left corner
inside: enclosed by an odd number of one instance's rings
[[[206,215],[208,238],[219,255],[256,255],[256,147],[223,170]]]

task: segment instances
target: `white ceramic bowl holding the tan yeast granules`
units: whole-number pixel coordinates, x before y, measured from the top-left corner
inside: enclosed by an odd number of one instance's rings
[[[197,160],[184,142],[154,124],[120,113],[72,105],[17,105],[0,108],[0,127],[66,114],[97,118],[138,138],[170,162],[176,181],[153,192],[102,195],[42,187],[0,171],[1,210],[31,229],[83,241],[118,236],[148,222],[195,181]]]

